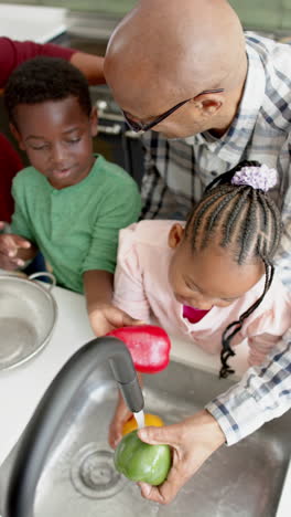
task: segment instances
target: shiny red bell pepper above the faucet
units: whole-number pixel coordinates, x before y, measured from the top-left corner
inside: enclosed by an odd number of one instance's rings
[[[157,373],[169,365],[171,341],[161,327],[121,327],[107,336],[116,337],[127,345],[136,369],[142,373]]]

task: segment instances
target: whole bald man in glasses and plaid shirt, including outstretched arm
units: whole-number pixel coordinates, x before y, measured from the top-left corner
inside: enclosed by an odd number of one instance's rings
[[[244,34],[225,0],[141,0],[112,34],[104,70],[128,124],[144,131],[143,217],[185,219],[205,186],[242,159],[278,169],[278,264],[291,287],[291,48]],[[290,393],[289,336],[200,413],[139,431],[173,450],[168,481],[141,484],[142,495],[170,503],[222,444],[288,411]]]

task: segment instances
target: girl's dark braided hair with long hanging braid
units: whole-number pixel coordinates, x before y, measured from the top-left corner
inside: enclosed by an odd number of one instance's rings
[[[260,188],[231,183],[234,175],[242,168],[260,166],[258,161],[245,160],[218,176],[206,187],[185,228],[193,251],[205,249],[218,235],[222,247],[230,245],[234,250],[237,264],[244,264],[252,257],[265,264],[266,278],[261,296],[223,333],[220,378],[234,373],[227,362],[229,357],[235,356],[230,341],[241,329],[244,320],[260,305],[273,279],[272,257],[281,236],[280,212]]]

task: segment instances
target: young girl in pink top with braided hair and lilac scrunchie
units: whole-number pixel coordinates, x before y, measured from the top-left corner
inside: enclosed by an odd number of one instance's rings
[[[115,306],[220,352],[220,377],[233,372],[227,359],[244,339],[249,362],[260,363],[291,324],[272,264],[281,223],[267,192],[276,182],[274,169],[242,162],[208,186],[185,224],[121,230]]]

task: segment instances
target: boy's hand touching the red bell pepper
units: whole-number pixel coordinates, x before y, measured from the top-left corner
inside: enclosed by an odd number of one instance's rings
[[[104,336],[115,328],[130,325],[144,325],[140,319],[131,318],[127,313],[111,304],[99,304],[89,312],[89,320],[96,336]]]

